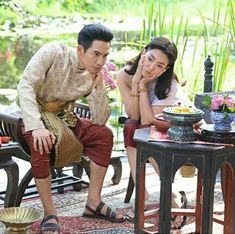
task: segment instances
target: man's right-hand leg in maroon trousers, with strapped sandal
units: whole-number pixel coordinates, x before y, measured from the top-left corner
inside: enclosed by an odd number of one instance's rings
[[[96,215],[94,211],[102,203],[101,190],[110,162],[113,147],[113,133],[108,127],[94,125],[87,119],[78,120],[74,133],[83,143],[83,153],[90,159],[90,184],[86,209],[83,215],[90,215],[91,217],[91,215]],[[109,216],[109,212],[107,212],[109,209],[104,204],[100,213],[104,216]],[[105,218],[104,216],[103,218]],[[121,222],[124,219],[123,216],[115,214],[115,217],[111,221]]]

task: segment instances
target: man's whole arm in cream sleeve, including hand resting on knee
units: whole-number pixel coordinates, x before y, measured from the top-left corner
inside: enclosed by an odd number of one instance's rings
[[[17,88],[25,130],[32,131],[34,149],[39,150],[40,154],[43,151],[50,153],[56,140],[55,135],[45,128],[36,100],[36,95],[46,77],[46,72],[54,61],[56,52],[57,49],[52,43],[39,49],[26,66]]]

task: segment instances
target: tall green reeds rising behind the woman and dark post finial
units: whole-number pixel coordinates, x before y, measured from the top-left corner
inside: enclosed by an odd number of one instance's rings
[[[226,3],[225,7],[224,3]],[[161,0],[150,0],[148,3],[145,1],[140,47],[149,43],[155,36],[165,35],[170,38],[179,52],[176,73],[180,80],[188,80],[189,87],[191,87],[190,97],[193,97],[196,92],[203,91],[203,61],[211,55],[215,63],[213,91],[224,91],[230,54],[235,45],[234,5],[233,0],[214,0],[212,16],[207,16],[198,9],[197,16],[201,19],[202,27],[193,36],[192,45],[189,42],[192,40],[191,29],[194,26],[188,17],[180,14],[177,9],[174,9],[171,15],[168,14]],[[186,71],[189,64],[191,64],[191,69]]]

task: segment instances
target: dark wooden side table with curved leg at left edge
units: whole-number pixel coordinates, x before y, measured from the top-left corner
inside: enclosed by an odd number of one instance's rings
[[[0,169],[4,169],[7,174],[7,188],[4,197],[4,207],[14,206],[18,182],[19,182],[19,168],[15,161],[12,160],[12,155],[16,154],[19,146],[2,145],[0,147]]]

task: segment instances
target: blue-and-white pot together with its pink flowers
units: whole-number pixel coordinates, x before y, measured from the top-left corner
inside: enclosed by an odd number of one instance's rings
[[[215,130],[229,131],[235,120],[235,96],[216,94],[205,95],[203,104],[210,108],[210,119]]]

